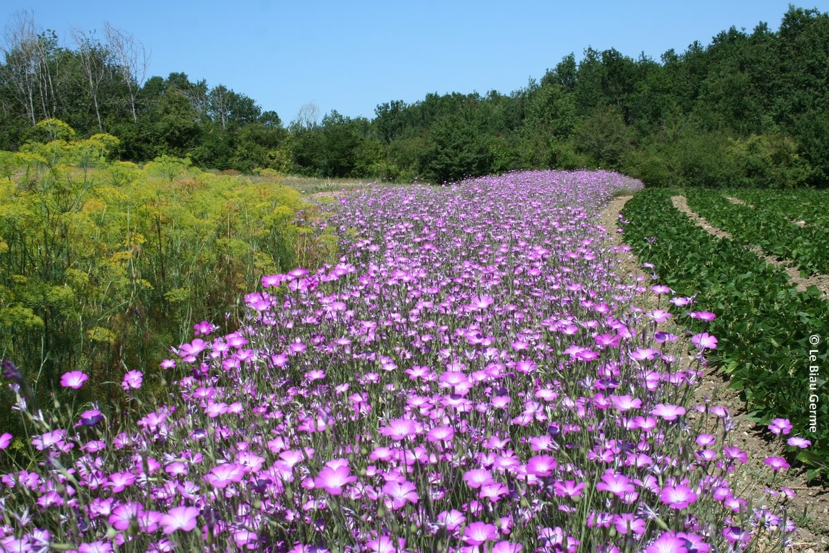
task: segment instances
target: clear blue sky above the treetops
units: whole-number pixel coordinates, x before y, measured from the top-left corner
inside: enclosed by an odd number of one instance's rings
[[[225,85],[272,109],[284,124],[309,102],[371,119],[393,99],[414,103],[430,92],[508,94],[541,79],[563,56],[591,46],[658,61],[673,48],[703,45],[734,26],[777,30],[789,0],[11,0],[36,26],[74,47],[70,29],[104,22],[152,51],[149,75],[173,71],[210,87]],[[792,2],[829,12],[829,0]]]

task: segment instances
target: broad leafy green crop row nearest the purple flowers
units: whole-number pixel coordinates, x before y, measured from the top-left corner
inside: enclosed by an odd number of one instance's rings
[[[645,189],[623,210],[625,240],[654,265],[662,284],[695,296],[691,310],[716,313],[703,325],[719,339],[711,362],[730,375],[758,422],[788,418],[812,448],[797,458],[815,477],[829,475],[827,348],[829,303],[817,289],[797,292],[782,269],[734,240],[719,240],[671,204],[671,192]],[[689,308],[675,308],[677,313]],[[810,360],[809,354],[815,358]],[[810,371],[817,366],[818,371]],[[812,399],[818,398],[817,401]],[[812,407],[814,407],[812,409]]]

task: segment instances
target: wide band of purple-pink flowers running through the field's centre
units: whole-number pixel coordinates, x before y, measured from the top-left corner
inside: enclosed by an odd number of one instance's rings
[[[669,302],[715,314],[618,274],[596,221],[639,187],[342,196],[337,264],[265,276],[239,332],[196,325],[162,403],[128,371],[118,417],[29,413],[4,361],[34,437],[0,436],[0,551],[781,551],[793,492],[743,497],[730,413],[690,401],[716,337],[667,326]]]

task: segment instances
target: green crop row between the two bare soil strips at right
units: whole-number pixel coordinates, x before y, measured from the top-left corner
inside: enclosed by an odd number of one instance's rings
[[[686,191],[688,206],[744,245],[792,260],[803,273],[829,273],[829,228],[797,226],[776,210],[734,204],[719,192]]]

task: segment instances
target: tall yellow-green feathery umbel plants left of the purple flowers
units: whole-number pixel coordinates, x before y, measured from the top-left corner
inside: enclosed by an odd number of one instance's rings
[[[110,163],[115,142],[0,152],[0,354],[27,371],[38,405],[61,398],[65,371],[95,382],[80,400],[118,397],[124,371],[158,370],[195,323],[232,332],[263,274],[313,267],[336,246],[299,192],[178,158]],[[12,395],[0,394],[5,417]]]

